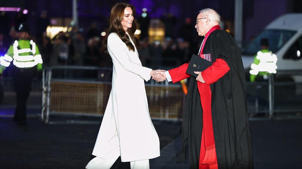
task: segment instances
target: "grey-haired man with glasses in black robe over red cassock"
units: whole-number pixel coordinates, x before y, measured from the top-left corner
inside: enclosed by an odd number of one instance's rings
[[[188,145],[191,169],[251,169],[243,63],[234,39],[219,23],[219,14],[207,8],[199,12],[195,25],[199,36],[205,36],[199,56],[212,61],[212,66],[196,72],[197,78],[186,74],[188,64],[159,72],[173,83],[190,77],[177,161],[186,160]]]

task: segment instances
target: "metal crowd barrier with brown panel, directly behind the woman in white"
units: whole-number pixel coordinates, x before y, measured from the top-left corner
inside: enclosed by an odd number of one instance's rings
[[[103,116],[111,91],[112,68],[54,66],[42,78],[42,121],[51,115]],[[152,119],[182,118],[185,95],[181,85],[145,83]],[[134,91],[135,92],[135,91]]]

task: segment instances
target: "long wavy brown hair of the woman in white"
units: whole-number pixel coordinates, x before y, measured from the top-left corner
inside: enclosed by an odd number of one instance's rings
[[[121,24],[122,20],[124,19],[124,14],[125,14],[125,8],[130,7],[132,9],[133,15],[135,14],[135,8],[133,5],[128,4],[128,3],[116,3],[112,8],[111,8],[111,13],[110,13],[110,19],[109,19],[109,30],[108,34],[110,33],[116,33],[120,39],[127,45],[129,51],[135,51],[135,48],[133,44],[130,42],[130,39],[128,35],[126,34],[125,30],[123,29],[123,26]],[[136,49],[139,49],[139,43],[137,38],[134,36],[134,32],[136,31],[136,24],[133,20],[132,22],[132,27],[127,29],[127,33],[131,37]],[[104,40],[104,45],[105,45],[105,50],[107,50],[107,39]]]

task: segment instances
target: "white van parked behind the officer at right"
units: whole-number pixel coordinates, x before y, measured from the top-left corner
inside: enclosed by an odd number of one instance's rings
[[[261,38],[269,41],[269,50],[277,55],[277,73],[302,70],[302,13],[289,13],[272,21],[242,52],[244,69],[250,69],[260,50]]]

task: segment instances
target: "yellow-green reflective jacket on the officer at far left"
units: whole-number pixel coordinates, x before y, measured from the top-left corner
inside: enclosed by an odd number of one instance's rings
[[[42,57],[38,46],[32,40],[16,40],[10,45],[7,53],[0,57],[0,64],[8,67],[10,62],[18,68],[31,68],[37,65],[37,69],[42,69]]]

